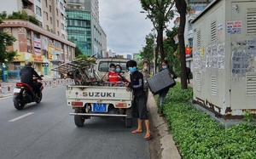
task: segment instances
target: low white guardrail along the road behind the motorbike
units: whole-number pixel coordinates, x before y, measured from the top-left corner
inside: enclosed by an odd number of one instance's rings
[[[74,83],[73,79],[55,79],[53,81],[42,81],[44,88],[53,87],[57,85],[64,85]],[[6,85],[2,86],[0,82],[0,98],[3,97],[3,94],[9,94],[14,91],[16,85]]]

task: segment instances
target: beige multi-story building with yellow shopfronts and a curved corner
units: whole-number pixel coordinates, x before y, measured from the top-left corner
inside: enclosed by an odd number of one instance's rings
[[[65,21],[65,0],[0,0],[0,12],[7,14],[25,10],[35,16],[39,26],[29,20],[4,20],[0,25],[3,31],[16,38],[9,50],[17,50],[19,56],[9,66],[19,79],[19,70],[26,60],[34,63],[36,71],[44,75],[53,75],[50,69],[63,62],[74,59],[75,43],[67,40]],[[11,7],[10,7],[11,6]],[[11,74],[9,78],[11,78]]]

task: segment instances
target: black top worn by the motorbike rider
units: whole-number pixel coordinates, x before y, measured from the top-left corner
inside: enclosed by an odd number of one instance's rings
[[[20,70],[20,81],[27,83],[27,84],[32,84],[33,83],[33,75],[35,77],[41,78],[41,77],[39,77],[38,73],[32,67],[25,65]]]

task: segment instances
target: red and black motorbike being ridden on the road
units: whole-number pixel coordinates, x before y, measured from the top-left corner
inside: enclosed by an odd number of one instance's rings
[[[44,76],[41,76],[44,77]],[[37,82],[40,85],[40,94],[38,94],[38,99],[35,98],[35,93],[32,87],[23,82],[16,82],[16,87],[13,94],[13,102],[17,110],[22,110],[25,105],[36,102],[39,104],[43,98],[42,91],[44,89],[43,83],[38,77],[33,77],[33,82]]]

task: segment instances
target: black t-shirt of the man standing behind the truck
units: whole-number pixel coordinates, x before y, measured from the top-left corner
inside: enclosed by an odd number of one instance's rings
[[[140,98],[145,96],[145,92],[143,90],[143,74],[139,71],[135,71],[130,75],[131,82],[128,85],[128,88],[133,89],[133,93],[135,98]]]

